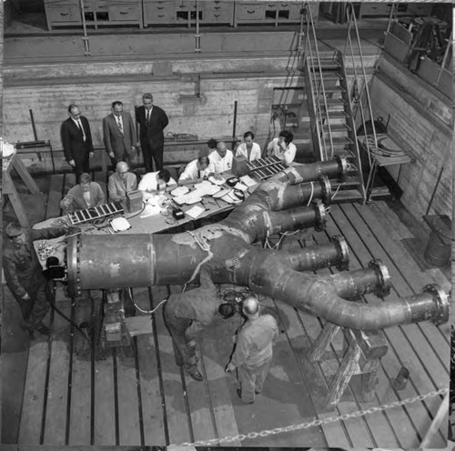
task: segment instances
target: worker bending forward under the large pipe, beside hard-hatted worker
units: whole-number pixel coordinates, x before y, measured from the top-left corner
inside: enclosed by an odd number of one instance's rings
[[[197,369],[196,340],[217,313],[217,289],[207,265],[200,269],[200,286],[169,296],[163,316],[177,347],[177,366],[184,366],[188,375],[197,381],[202,375]]]

